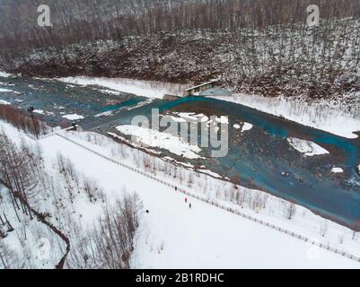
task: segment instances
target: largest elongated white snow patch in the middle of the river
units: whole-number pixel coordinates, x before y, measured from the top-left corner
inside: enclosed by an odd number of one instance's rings
[[[124,135],[135,136],[135,139],[132,142],[135,142],[140,146],[145,144],[161,148],[189,159],[197,159],[200,157],[197,153],[200,152],[201,149],[197,145],[186,143],[179,136],[161,133],[140,126],[118,126],[117,130]]]

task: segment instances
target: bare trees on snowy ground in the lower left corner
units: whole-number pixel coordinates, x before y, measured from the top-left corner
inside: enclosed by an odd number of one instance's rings
[[[0,132],[0,269],[39,268],[34,240],[41,237],[52,247],[44,262],[58,269],[129,268],[142,210],[136,193],[124,187],[110,201],[61,154],[48,169],[39,145]],[[91,224],[78,220],[75,200],[100,207]]]

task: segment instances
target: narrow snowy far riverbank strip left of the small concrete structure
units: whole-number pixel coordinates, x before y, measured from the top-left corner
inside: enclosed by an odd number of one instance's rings
[[[104,77],[66,77],[56,79],[64,83],[75,83],[80,85],[98,85],[113,91],[123,91],[137,96],[162,99],[164,94],[182,94],[188,85],[161,83],[154,81],[140,81],[132,79],[111,79]]]

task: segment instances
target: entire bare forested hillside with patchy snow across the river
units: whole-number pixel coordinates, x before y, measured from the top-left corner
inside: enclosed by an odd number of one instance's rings
[[[359,90],[356,0],[0,2],[0,63],[31,76],[89,75],[202,83],[307,100]],[[309,27],[309,4],[320,24]],[[206,54],[208,57],[203,57]]]

